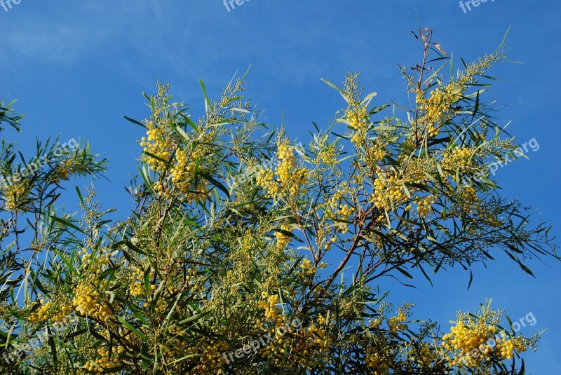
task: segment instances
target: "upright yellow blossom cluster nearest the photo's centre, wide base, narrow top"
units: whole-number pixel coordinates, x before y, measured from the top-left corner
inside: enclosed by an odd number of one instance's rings
[[[297,168],[297,157],[293,147],[288,144],[288,139],[277,142],[278,165],[276,170],[263,169],[257,174],[257,184],[262,186],[274,196],[278,193],[288,193],[297,196],[305,193],[309,171],[306,168]]]

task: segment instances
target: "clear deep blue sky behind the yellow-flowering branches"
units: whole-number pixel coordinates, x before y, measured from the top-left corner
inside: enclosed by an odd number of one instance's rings
[[[21,0],[0,8],[0,97],[17,98],[15,108],[27,116],[22,134],[4,134],[27,150],[35,137],[89,139],[111,163],[110,181],[96,183],[100,200],[125,216],[130,204],[123,186],[135,173],[142,129],[122,116],[148,116],[141,93],[154,93],[157,79],[169,82],[197,116],[203,109],[198,79],[216,96],[251,64],[248,96],[265,109],[265,120],[279,124],[284,114],[289,135],[306,141],[312,121],[327,125],[344,104],[320,78],[339,83],[357,70],[366,91],[378,92],[377,104],[405,101],[398,64],[419,61],[410,34],[417,13],[442,48],[465,60],[494,50],[512,27],[507,55],[525,64],[496,65],[492,75],[505,81],[492,95],[515,103],[503,109],[501,122],[512,120],[518,142],[535,138],[539,150],[501,168],[499,183],[504,196],[534,207],[536,219],[559,234],[561,3],[554,0],[487,1],[467,13],[458,1],[444,0],[250,0],[231,11],[221,0]],[[69,190],[64,201],[73,200]],[[548,331],[539,351],[526,355],[528,372],[561,373],[561,264],[531,261],[533,279],[499,259],[480,269],[469,291],[461,269],[439,273],[434,287],[419,279],[417,289],[403,290],[388,280],[381,289],[392,287],[393,301],[416,303],[417,318],[439,320],[445,329],[457,310],[475,311],[486,297],[513,320],[532,312],[537,323],[522,332]]]

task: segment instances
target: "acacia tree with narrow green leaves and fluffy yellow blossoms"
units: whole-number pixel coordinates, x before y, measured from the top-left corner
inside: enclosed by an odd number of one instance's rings
[[[471,270],[497,252],[528,273],[525,259],[557,258],[548,228],[532,226],[487,173],[519,151],[483,101],[504,43],[445,78],[452,61],[431,30],[415,37],[421,62],[403,69],[409,108],[384,111],[348,74],[342,88],[329,83],[344,109],[306,146],[259,122],[244,77],[219,100],[202,85],[198,119],[158,83],[145,95],[151,116],[128,118],[146,135],[124,221],[111,221],[93,188],[76,187],[81,218],[55,210],[61,181],[95,176],[105,161],[85,143],[58,158],[38,144],[36,157],[52,163],[1,191],[1,368],[524,373],[520,353],[538,337],[517,334],[489,304],[442,332],[414,320],[412,304],[385,301],[386,276]],[[13,147],[3,142],[5,177],[26,164]]]

